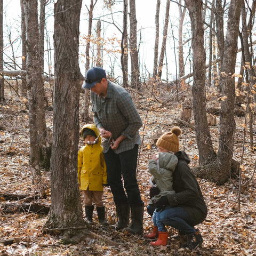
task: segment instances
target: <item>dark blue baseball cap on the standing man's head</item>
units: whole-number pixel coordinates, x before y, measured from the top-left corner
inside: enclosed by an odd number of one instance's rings
[[[103,68],[93,67],[88,69],[82,88],[91,89],[95,84],[99,83],[103,77],[107,77]]]

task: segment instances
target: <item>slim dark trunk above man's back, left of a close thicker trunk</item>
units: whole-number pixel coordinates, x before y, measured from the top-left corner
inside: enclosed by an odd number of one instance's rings
[[[121,67],[123,73],[123,87],[128,86],[128,35],[127,35],[127,6],[128,0],[124,0],[123,8],[123,33],[121,39]]]

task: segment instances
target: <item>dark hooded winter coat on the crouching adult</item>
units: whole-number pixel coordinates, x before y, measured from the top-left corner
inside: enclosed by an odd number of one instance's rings
[[[189,214],[191,226],[202,223],[207,216],[207,207],[198,182],[190,171],[190,159],[184,151],[175,154],[179,161],[173,173],[173,189],[175,194],[168,195],[171,207],[181,206]]]

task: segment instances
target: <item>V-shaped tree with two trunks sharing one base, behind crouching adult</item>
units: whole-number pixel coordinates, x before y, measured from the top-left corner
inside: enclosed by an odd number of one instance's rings
[[[237,171],[239,163],[233,160],[233,143],[235,132],[235,73],[237,37],[241,0],[231,0],[228,12],[228,24],[223,51],[222,76],[220,86],[222,92],[220,111],[220,138],[218,154],[212,147],[209,128],[205,117],[205,53],[203,47],[202,1],[185,0],[191,19],[193,33],[193,107],[196,125],[196,138],[199,150],[199,163],[195,172],[201,178],[210,179],[223,184],[230,177],[231,168]],[[201,85],[199,84],[201,83]],[[200,86],[202,86],[200,88]],[[200,90],[198,90],[200,89]],[[201,123],[198,121],[201,120]]]

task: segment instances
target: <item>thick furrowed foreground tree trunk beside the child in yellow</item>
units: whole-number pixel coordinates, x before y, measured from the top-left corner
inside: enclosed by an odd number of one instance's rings
[[[78,65],[81,6],[81,0],[59,0],[54,5],[52,204],[45,229],[84,225],[77,183],[78,108],[83,82]]]

